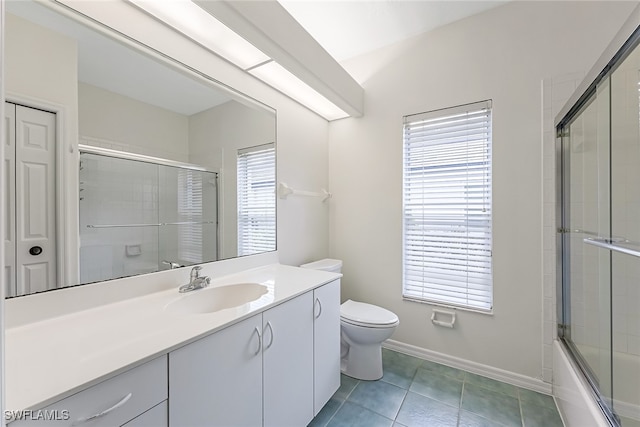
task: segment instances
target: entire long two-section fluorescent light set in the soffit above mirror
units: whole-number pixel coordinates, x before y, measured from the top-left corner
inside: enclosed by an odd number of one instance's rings
[[[349,116],[191,0],[128,1],[325,119]]]

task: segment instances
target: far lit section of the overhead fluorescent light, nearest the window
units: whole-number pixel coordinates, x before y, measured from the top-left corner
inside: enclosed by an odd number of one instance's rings
[[[349,117],[349,114],[342,111],[277,62],[271,61],[253,68],[249,72],[327,120]]]

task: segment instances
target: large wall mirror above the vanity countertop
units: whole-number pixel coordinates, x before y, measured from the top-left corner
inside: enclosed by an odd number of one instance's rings
[[[275,111],[48,3],[5,2],[5,295],[275,250]]]

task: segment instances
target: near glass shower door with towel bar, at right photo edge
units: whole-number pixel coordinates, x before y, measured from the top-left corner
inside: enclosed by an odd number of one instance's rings
[[[640,426],[639,89],[635,48],[611,75],[613,409],[624,427]]]

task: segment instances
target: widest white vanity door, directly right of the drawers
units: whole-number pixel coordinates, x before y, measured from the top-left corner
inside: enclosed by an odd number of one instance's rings
[[[169,353],[169,425],[262,425],[262,316]]]

